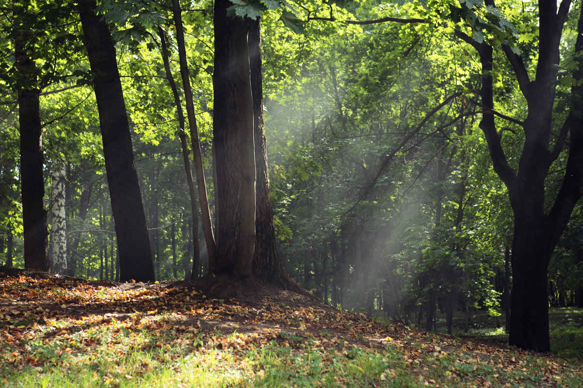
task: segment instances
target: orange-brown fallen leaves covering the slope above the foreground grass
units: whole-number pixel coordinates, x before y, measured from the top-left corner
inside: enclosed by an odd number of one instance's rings
[[[66,368],[78,354],[91,365],[101,347],[111,348],[113,365],[115,354],[137,350],[161,351],[170,360],[213,350],[230,368],[244,368],[246,352],[273,346],[348,358],[354,348],[395,350],[398,363],[373,386],[391,386],[403,373],[432,387],[563,387],[566,376],[583,381],[581,365],[550,356],[376,323],[297,294],[274,293],[243,302],[208,297],[196,283],[88,282],[0,268],[0,381],[24,368]],[[264,371],[255,369],[249,376],[261,378]],[[116,373],[103,371],[106,385],[114,374],[134,378]],[[343,384],[343,376],[334,379]]]

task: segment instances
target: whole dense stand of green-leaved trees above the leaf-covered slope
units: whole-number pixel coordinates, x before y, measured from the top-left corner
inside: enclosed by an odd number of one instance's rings
[[[6,264],[486,309],[542,351],[549,304],[583,306],[581,2],[0,12]]]

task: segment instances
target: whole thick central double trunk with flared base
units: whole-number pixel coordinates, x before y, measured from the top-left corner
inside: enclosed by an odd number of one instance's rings
[[[259,19],[228,16],[231,5],[215,3],[216,270],[299,289],[283,269],[275,241]]]

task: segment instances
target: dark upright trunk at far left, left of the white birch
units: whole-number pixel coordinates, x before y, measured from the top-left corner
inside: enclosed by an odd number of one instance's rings
[[[15,23],[16,17],[15,17]],[[47,271],[48,224],[44,202],[43,149],[35,65],[26,48],[26,34],[15,40],[16,68],[23,82],[18,92],[20,126],[20,184],[24,227],[24,268]]]

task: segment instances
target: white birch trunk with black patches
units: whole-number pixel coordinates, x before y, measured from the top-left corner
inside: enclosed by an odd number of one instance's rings
[[[66,163],[55,162],[52,172],[51,258],[52,272],[67,273],[67,224],[65,217]]]

